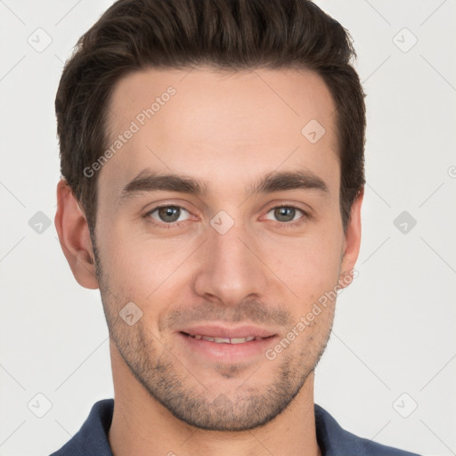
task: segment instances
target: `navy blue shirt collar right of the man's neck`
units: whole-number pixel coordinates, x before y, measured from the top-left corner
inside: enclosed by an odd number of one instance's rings
[[[318,444],[324,456],[419,456],[367,438],[354,436],[341,428],[336,419],[320,405],[314,404]]]

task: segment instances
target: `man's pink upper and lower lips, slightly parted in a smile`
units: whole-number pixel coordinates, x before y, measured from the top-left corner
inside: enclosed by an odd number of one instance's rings
[[[191,338],[189,334],[199,334],[211,338],[248,338],[240,344],[217,343],[205,339]],[[279,338],[273,330],[257,326],[226,327],[223,325],[200,325],[185,328],[176,332],[177,338],[186,354],[198,361],[205,362],[248,362],[255,358],[263,358],[265,351]]]

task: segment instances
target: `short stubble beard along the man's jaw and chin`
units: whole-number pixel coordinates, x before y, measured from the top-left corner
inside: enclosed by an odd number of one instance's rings
[[[245,431],[259,428],[285,411],[306,379],[314,372],[327,346],[332,330],[332,315],[326,334],[320,334],[318,346],[303,346],[284,352],[273,361],[277,368],[268,386],[255,387],[247,379],[235,394],[224,394],[227,379],[241,379],[245,366],[241,364],[217,364],[214,371],[220,381],[217,390],[208,390],[198,380],[198,372],[186,371],[183,362],[175,359],[160,341],[144,328],[139,320],[128,326],[118,315],[127,301],[110,293],[108,281],[102,269],[99,253],[94,245],[96,274],[99,281],[104,314],[110,330],[110,338],[118,353],[144,387],[148,395],[163,405],[175,418],[200,429],[212,431]],[[304,336],[301,336],[304,338]],[[313,341],[314,338],[308,338]],[[314,341],[315,342],[315,341]],[[161,352],[159,354],[159,352]],[[265,359],[265,364],[272,361]],[[258,372],[261,372],[261,365]],[[261,374],[260,374],[261,375]]]

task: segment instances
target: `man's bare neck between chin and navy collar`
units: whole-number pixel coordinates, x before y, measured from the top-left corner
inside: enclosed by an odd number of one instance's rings
[[[193,428],[176,419],[134,378],[111,342],[114,414],[109,442],[114,456],[321,456],[314,419],[314,372],[289,407],[260,428],[239,432]]]

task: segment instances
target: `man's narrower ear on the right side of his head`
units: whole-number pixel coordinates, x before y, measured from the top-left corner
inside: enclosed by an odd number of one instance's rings
[[[358,259],[361,245],[361,206],[364,197],[364,189],[360,191],[358,197],[354,200],[350,211],[350,219],[346,226],[344,237],[344,246],[342,249],[342,264],[340,265],[339,286],[341,289],[346,288],[356,277],[354,265]],[[350,276],[350,277],[349,277]]]

